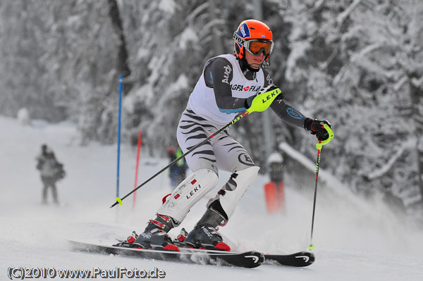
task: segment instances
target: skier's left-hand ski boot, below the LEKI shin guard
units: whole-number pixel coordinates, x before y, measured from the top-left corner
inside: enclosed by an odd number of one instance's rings
[[[138,235],[135,240],[130,243],[131,247],[152,250],[179,251],[178,246],[173,244],[171,237],[167,234],[167,232],[175,225],[176,223],[174,223],[172,218],[157,214],[156,220],[149,220],[144,232]]]

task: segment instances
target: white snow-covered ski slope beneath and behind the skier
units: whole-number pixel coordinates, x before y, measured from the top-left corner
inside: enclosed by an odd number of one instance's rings
[[[383,204],[354,198],[349,192],[319,189],[313,250],[317,261],[307,268],[260,266],[255,269],[188,265],[137,260],[119,256],[70,251],[67,239],[111,244],[130,232],[142,232],[154,216],[161,197],[169,193],[168,174],[152,180],[123,206],[109,208],[116,196],[116,145],[78,145],[73,125],[51,125],[0,117],[0,280],[8,268],[116,270],[133,268],[166,273],[164,280],[421,280],[423,232],[399,218]],[[145,136],[148,138],[148,136]],[[51,146],[64,163],[67,177],[59,182],[61,206],[41,205],[41,181],[35,169],[40,146]],[[120,195],[130,192],[135,180],[136,150],[121,147]],[[164,149],[164,148],[163,148]],[[138,184],[167,164],[142,150]],[[324,167],[322,167],[324,168]],[[305,173],[305,177],[313,177]],[[228,174],[221,174],[221,184]],[[286,210],[266,214],[259,176],[245,194],[231,222],[220,232],[234,249],[288,254],[309,244],[313,187],[289,179]],[[313,180],[313,178],[312,178]],[[340,187],[341,188],[341,187]],[[342,194],[345,194],[344,196]],[[214,194],[209,194],[212,196]],[[183,227],[190,230],[205,209],[207,199],[192,209]],[[180,229],[172,230],[175,237]],[[54,279],[61,279],[59,275]],[[100,278],[99,278],[100,279]],[[104,279],[103,279],[104,280]]]

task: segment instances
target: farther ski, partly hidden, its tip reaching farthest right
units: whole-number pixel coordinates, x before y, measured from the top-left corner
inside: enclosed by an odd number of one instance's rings
[[[184,247],[183,243],[176,243],[179,246],[181,252],[190,251],[190,252],[200,252],[200,253],[219,253],[219,254],[240,254],[233,251],[216,251],[216,250],[206,250],[206,249],[192,249]],[[302,268],[309,266],[315,261],[315,256],[309,251],[299,251],[293,254],[264,254],[264,263],[274,266],[293,266]]]

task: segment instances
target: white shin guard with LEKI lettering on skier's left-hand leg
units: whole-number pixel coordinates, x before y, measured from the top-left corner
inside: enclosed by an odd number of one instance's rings
[[[182,222],[190,208],[216,187],[217,182],[218,177],[213,170],[197,170],[173,190],[157,213]]]

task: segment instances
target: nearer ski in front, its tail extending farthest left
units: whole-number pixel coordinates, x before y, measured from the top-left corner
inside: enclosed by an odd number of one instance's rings
[[[215,266],[238,266],[243,268],[256,268],[264,262],[264,255],[257,251],[246,251],[245,253],[189,251],[189,249],[186,251],[159,251],[121,246],[104,246],[76,241],[69,241],[69,243],[74,251],[133,256],[162,261],[180,261],[183,263],[209,264]]]

